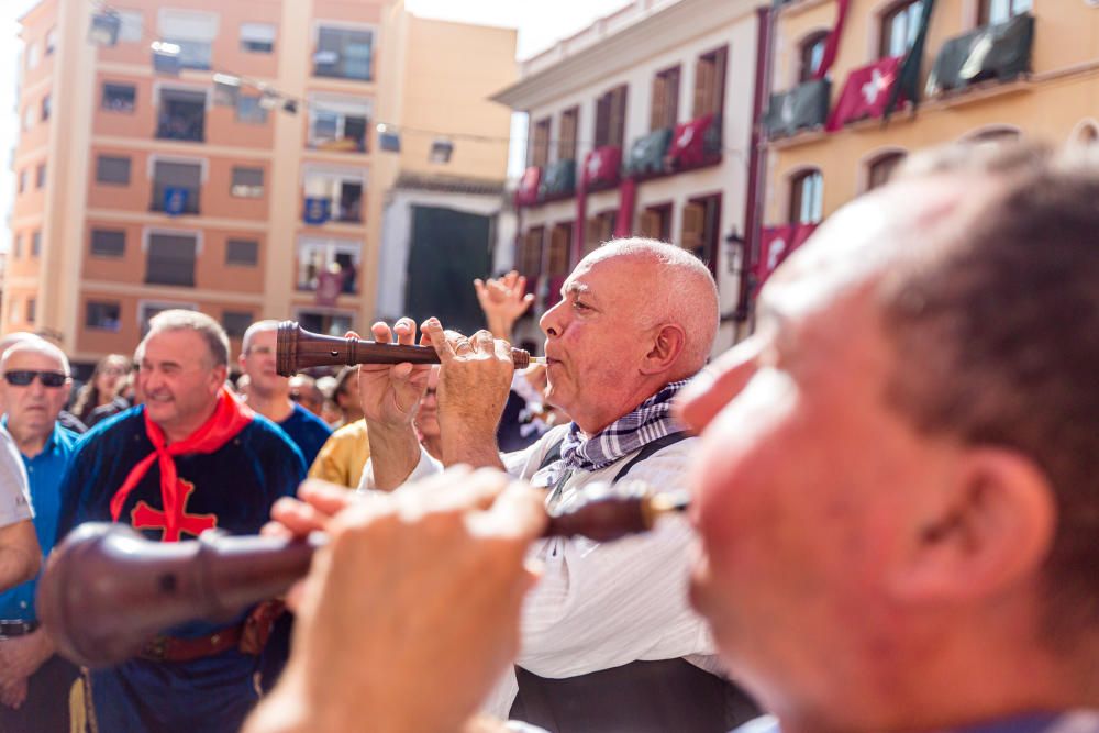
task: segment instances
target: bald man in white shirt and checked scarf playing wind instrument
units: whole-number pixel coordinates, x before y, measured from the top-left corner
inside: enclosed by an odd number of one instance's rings
[[[626,474],[668,489],[685,486],[693,440],[669,410],[706,364],[717,332],[717,289],[707,267],[674,245],[611,242],[576,267],[541,326],[550,400],[575,422],[501,457],[497,425],[514,371],[507,342],[486,331],[470,338],[444,334],[435,320],[424,324],[442,360],[442,464],[506,468],[546,488],[551,510],[575,502],[586,485]],[[411,343],[409,320],[396,329],[401,343]],[[374,336],[391,338],[385,324],[375,325]],[[429,370],[360,367],[373,451],[366,488],[390,490],[440,469],[412,426]],[[682,596],[689,537],[686,522],[676,521],[614,545],[543,543],[535,554],[546,571],[524,608],[515,674],[488,708],[562,732],[724,731],[736,722],[737,706],[751,714],[751,704],[706,666],[709,638]]]

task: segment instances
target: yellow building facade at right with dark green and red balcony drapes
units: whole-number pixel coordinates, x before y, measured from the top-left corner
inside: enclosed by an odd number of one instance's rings
[[[1099,3],[850,0],[843,13],[844,4],[777,3],[761,279],[910,152],[1099,140]]]

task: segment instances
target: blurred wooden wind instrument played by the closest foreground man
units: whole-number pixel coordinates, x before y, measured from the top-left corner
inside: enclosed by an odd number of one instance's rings
[[[615,487],[552,515],[545,536],[606,542],[645,532],[662,514],[686,507],[686,496]],[[49,556],[38,582],[38,618],[68,659],[88,667],[118,664],[166,629],[230,620],[285,592],[309,571],[324,542],[320,533],[287,541],[207,532],[197,541],[160,543],[122,524],[82,524]]]

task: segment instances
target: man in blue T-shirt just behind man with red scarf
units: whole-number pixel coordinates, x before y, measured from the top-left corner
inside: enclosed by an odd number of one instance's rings
[[[275,370],[278,321],[258,321],[244,332],[241,370],[248,377],[249,408],[282,429],[310,466],[332,431],[320,418],[290,399],[290,380]]]

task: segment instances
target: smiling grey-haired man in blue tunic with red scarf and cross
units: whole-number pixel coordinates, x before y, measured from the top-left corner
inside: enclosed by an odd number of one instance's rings
[[[201,313],[165,311],[149,321],[137,362],[144,404],[79,445],[63,484],[60,534],[87,521],[124,522],[162,542],[258,532],[306,466],[285,433],[225,387],[225,332]],[[169,630],[138,658],[92,670],[98,730],[236,731],[257,699],[266,610]]]

